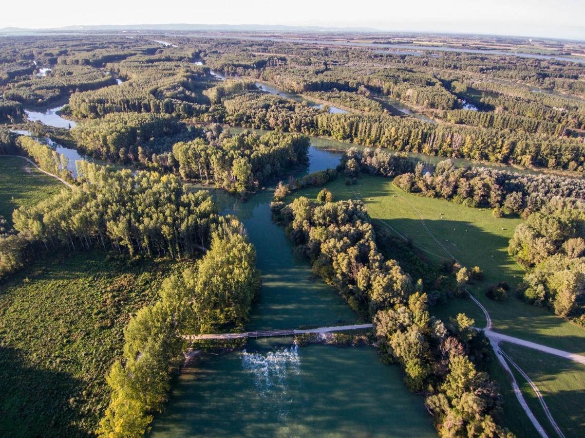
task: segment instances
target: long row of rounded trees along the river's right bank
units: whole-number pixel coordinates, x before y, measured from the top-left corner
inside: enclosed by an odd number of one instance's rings
[[[362,202],[301,197],[271,208],[315,273],[373,319],[381,356],[401,364],[408,387],[425,393],[439,436],[509,436],[496,422],[498,389],[478,370],[490,348],[486,338],[463,314],[449,325],[429,315],[422,284],[378,252]]]

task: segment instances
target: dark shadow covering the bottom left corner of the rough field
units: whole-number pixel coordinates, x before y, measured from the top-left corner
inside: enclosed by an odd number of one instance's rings
[[[0,347],[0,436],[80,436],[68,399],[78,381],[31,367],[22,350]]]

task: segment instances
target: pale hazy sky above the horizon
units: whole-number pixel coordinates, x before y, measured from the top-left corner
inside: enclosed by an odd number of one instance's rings
[[[584,18],[585,0],[12,0],[0,27],[253,23],[585,40]]]

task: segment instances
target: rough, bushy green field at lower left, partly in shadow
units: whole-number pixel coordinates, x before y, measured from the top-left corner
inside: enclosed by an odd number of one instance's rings
[[[186,262],[185,262],[186,263]],[[157,299],[170,261],[101,251],[53,256],[0,285],[0,436],[87,436],[131,313]]]

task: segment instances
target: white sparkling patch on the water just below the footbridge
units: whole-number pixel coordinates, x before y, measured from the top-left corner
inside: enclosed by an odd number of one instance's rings
[[[252,373],[253,383],[266,406],[272,406],[278,416],[285,418],[290,412],[292,399],[288,395],[292,380],[300,374],[300,358],[295,345],[268,353],[242,353],[242,368]],[[263,404],[264,404],[263,402]]]

